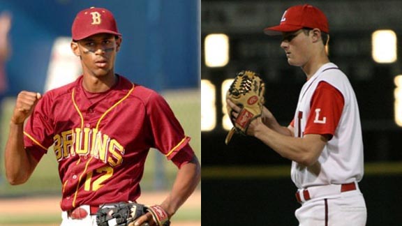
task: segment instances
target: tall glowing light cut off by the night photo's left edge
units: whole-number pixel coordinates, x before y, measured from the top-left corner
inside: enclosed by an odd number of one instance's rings
[[[201,80],[201,131],[216,127],[215,86],[209,80]]]

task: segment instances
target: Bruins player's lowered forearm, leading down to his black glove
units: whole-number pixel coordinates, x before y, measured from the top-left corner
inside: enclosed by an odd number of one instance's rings
[[[161,206],[169,216],[176,213],[177,209],[186,202],[200,183],[201,167],[198,158],[194,156],[191,163],[182,165],[177,172],[170,195],[163,201]]]

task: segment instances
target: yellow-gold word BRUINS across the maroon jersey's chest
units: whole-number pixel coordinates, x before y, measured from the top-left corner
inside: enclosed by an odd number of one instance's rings
[[[124,147],[96,128],[75,128],[54,135],[54,153],[58,161],[70,156],[94,156],[115,167],[123,162]]]

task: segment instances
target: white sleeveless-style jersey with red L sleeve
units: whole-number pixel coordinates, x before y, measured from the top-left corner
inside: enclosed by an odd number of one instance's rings
[[[329,137],[317,163],[311,167],[292,163],[292,181],[297,188],[362,179],[359,107],[348,77],[334,63],[326,63],[304,84],[291,126],[295,128],[295,137]]]

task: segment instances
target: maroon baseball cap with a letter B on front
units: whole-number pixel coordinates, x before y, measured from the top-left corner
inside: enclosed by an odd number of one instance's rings
[[[87,8],[75,16],[71,34],[73,40],[81,40],[97,33],[112,33],[121,36],[113,14],[105,8]]]

